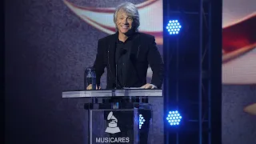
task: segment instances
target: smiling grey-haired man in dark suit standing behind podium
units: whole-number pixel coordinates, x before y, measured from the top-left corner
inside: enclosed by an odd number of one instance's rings
[[[161,88],[163,81],[162,57],[154,36],[138,32],[139,14],[134,4],[125,2],[114,12],[116,33],[98,40],[98,53],[94,62],[96,82],[107,69],[106,89],[139,87]],[[146,83],[146,72],[150,65],[153,75]],[[90,90],[91,86],[87,87]]]

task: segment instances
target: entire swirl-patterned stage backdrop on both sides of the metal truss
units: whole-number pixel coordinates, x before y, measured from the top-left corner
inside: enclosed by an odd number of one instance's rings
[[[83,72],[93,65],[97,40],[114,33],[111,13],[121,2],[5,2],[6,142],[86,143],[86,113],[78,109],[84,100],[62,99],[62,90],[84,89]],[[140,30],[154,34],[162,52],[162,1],[127,2],[138,6]],[[255,5],[254,0],[223,1],[223,144],[255,143],[255,116],[243,112],[256,102],[255,37],[247,38],[255,29],[232,28],[251,18],[255,22]],[[150,69],[148,75],[150,80]],[[154,111],[159,124],[154,127],[154,142],[161,144],[162,101],[154,102]]]

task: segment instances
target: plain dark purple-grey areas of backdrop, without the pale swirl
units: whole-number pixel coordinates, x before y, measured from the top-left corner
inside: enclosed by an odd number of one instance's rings
[[[121,1],[73,2],[114,6]],[[97,40],[106,35],[83,22],[61,0],[5,2],[6,143],[86,141],[86,113],[78,109],[83,100],[63,99],[62,90],[83,89],[83,70],[93,64]],[[224,144],[256,142],[255,116],[242,111],[252,102],[256,102],[255,86],[222,87]],[[154,141],[160,144],[162,100],[154,105],[154,122],[160,122],[154,128]]]

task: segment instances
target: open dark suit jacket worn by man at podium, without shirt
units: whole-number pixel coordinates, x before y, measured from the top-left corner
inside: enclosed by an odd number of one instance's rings
[[[164,74],[162,57],[159,54],[154,36],[143,33],[134,39],[130,50],[130,62],[133,66],[127,69],[126,87],[139,87],[146,84],[146,72],[148,65],[153,71],[151,83],[161,88]],[[96,82],[100,85],[100,78],[107,69],[106,89],[114,89],[116,83],[115,42],[118,32],[98,40],[98,53],[94,62]]]

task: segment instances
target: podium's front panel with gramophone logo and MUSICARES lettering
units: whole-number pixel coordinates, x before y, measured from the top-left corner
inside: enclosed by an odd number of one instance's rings
[[[134,144],[137,114],[137,110],[90,110],[90,143]]]

